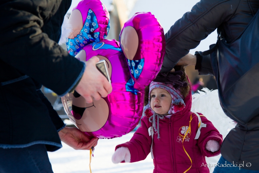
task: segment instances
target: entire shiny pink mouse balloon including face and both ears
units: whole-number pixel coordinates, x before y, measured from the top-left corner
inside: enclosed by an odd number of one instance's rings
[[[135,14],[135,17],[133,16],[129,21],[136,20],[136,17],[138,20],[129,22],[132,26],[121,31],[120,39],[123,41],[123,49],[121,49],[120,43],[116,40],[105,39],[108,34],[109,21],[107,10],[100,4],[100,1],[83,0],[79,4],[90,3],[92,6],[81,9],[87,13],[85,18],[82,17],[81,23],[83,24],[74,24],[75,28],[72,25],[73,33],[67,39],[68,52],[80,61],[87,61],[92,56],[98,56],[100,60],[104,59],[111,76],[113,91],[107,97],[98,101],[94,100],[91,104],[87,104],[84,98],[74,91],[62,97],[62,102],[69,119],[88,136],[120,137],[132,131],[142,116],[144,87],[159,72],[165,53],[163,29],[150,13],[141,13],[142,16]],[[95,10],[94,7],[97,8],[98,4],[102,8]],[[72,14],[83,14],[78,6],[71,13],[69,21],[78,19]],[[102,15],[98,15],[100,11],[103,12]],[[151,23],[147,22],[145,17]],[[144,18],[143,21],[142,18]],[[93,23],[91,19],[96,22]],[[99,21],[102,21],[102,24]],[[72,21],[71,24],[73,24]],[[145,32],[143,28],[148,28],[148,26],[151,26],[149,29],[156,36],[143,40],[143,38],[146,39],[143,37],[145,35],[142,33]],[[130,37],[128,33],[134,33],[134,35]]]

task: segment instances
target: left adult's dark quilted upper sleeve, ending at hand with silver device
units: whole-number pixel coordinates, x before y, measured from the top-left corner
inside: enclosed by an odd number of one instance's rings
[[[55,4],[57,2],[22,0],[0,3],[0,59],[58,95],[64,95],[81,78],[85,63],[51,40],[48,34],[55,40],[59,38],[54,38],[50,34],[52,31],[44,28],[44,24],[53,22],[55,17],[65,15],[66,11],[54,15],[60,7]],[[58,20],[63,21],[63,18]]]

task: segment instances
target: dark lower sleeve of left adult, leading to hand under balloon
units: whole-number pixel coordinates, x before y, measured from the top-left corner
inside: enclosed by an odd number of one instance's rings
[[[56,110],[53,109],[51,103],[49,102],[49,100],[43,95],[43,93],[41,92],[41,90],[37,90],[37,93],[41,99],[41,101],[46,105],[48,112],[49,112],[49,116],[50,119],[52,121],[52,123],[54,124],[54,126],[56,127],[57,131],[60,131],[65,124],[63,123],[62,119],[59,117],[58,113],[56,112]]]

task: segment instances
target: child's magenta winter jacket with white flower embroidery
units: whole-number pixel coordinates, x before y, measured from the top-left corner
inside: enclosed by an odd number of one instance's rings
[[[186,104],[184,110],[173,114],[170,119],[159,119],[160,139],[157,139],[155,133],[153,136],[153,162],[155,166],[153,173],[183,173],[187,170],[191,166],[191,161],[184,152],[183,145],[193,162],[188,173],[209,172],[209,169],[203,166],[206,164],[205,156],[212,157],[220,154],[220,151],[212,153],[205,148],[207,141],[210,139],[218,141],[220,145],[223,140],[222,135],[204,116],[201,116],[201,121],[207,124],[207,127],[202,127],[199,138],[194,139],[199,120],[195,113],[190,112],[191,91],[184,99],[184,103]],[[191,121],[191,134],[182,143],[179,133],[182,134],[183,126],[189,126],[191,114],[194,117]],[[115,148],[116,150],[121,146],[128,147],[131,155],[130,162],[144,160],[150,153],[152,138],[148,135],[148,128],[152,126],[152,123],[149,122],[148,118],[143,117],[141,119],[141,127],[138,128],[129,142],[120,144]]]

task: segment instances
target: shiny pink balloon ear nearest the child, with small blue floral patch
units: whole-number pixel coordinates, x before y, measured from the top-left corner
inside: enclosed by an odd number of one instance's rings
[[[134,88],[143,89],[159,73],[165,56],[165,36],[150,12],[136,13],[125,22],[120,44],[127,58]]]

